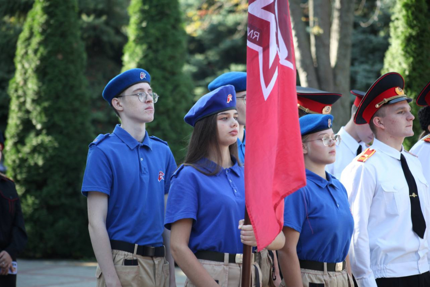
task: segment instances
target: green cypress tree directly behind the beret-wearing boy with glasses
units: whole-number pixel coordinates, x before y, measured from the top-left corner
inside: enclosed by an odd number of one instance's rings
[[[150,73],[151,88],[160,98],[147,129],[167,141],[179,160],[184,155],[184,139],[191,132],[183,118],[194,96],[191,79],[183,71],[186,33],[178,0],[132,0],[128,14],[123,70],[140,67]]]

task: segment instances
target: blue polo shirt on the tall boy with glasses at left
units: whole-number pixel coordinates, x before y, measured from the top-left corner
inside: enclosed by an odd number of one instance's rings
[[[106,193],[109,239],[163,244],[164,194],[176,169],[167,143],[145,133],[142,143],[117,125],[90,144],[82,194]]]

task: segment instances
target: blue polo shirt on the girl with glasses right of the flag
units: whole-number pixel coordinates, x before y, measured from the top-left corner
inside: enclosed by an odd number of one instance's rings
[[[300,232],[299,260],[345,260],[354,229],[345,187],[329,173],[327,180],[306,170],[307,185],[285,197],[284,226]]]

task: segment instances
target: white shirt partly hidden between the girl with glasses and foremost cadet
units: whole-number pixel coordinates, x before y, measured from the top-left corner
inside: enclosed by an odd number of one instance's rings
[[[337,133],[340,136],[340,145],[336,145],[336,161],[330,165],[325,166],[326,172],[334,175],[335,178],[340,179],[340,174],[350,162],[357,156],[357,149],[361,145],[362,151],[367,146],[363,142],[357,142],[344,127],[341,127]]]

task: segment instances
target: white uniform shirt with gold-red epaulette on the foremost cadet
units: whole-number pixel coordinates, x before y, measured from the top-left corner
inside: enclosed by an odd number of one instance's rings
[[[428,265],[430,195],[417,157],[374,140],[376,152],[365,162],[354,160],[343,170],[355,227],[350,247],[352,272],[360,287],[376,287],[375,278],[424,273]],[[409,187],[400,153],[415,178],[426,222],[424,239],[412,231]]]

